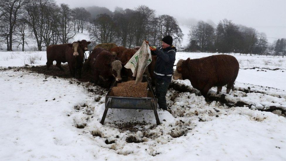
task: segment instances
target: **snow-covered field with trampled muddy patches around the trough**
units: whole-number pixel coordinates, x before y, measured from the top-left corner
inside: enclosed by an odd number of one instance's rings
[[[177,52],[179,59],[217,53]],[[234,55],[234,54],[231,54]],[[1,52],[1,160],[286,160],[285,57],[234,55],[235,91],[216,95],[238,105],[205,102],[170,89],[168,111],[109,109],[106,89],[21,67],[45,65],[46,52]],[[30,60],[36,62],[30,63]],[[281,110],[266,112],[270,107]],[[282,115],[282,116],[281,116]]]

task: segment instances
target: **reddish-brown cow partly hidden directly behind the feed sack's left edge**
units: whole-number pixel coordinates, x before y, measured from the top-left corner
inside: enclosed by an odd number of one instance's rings
[[[135,49],[126,49],[121,57],[120,57],[120,61],[122,62],[122,65],[126,65],[126,63],[133,57],[133,55],[135,54],[136,50]],[[132,80],[133,77],[133,73],[131,71],[131,69],[127,69],[125,67],[122,68],[122,75],[127,76],[128,80]]]

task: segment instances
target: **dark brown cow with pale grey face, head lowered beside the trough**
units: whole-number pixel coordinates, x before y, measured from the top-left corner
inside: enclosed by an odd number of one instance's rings
[[[91,69],[94,73],[95,84],[101,84],[99,81],[110,84],[115,78],[116,81],[121,81],[122,64],[117,57],[108,51],[101,51],[94,62],[91,63]]]

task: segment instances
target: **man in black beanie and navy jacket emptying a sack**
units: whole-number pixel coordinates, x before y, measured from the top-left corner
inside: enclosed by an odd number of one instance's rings
[[[151,54],[157,55],[154,74],[156,78],[155,94],[159,108],[167,110],[166,94],[171,83],[177,49],[172,45],[173,38],[168,35],[162,39],[161,48],[150,46]]]

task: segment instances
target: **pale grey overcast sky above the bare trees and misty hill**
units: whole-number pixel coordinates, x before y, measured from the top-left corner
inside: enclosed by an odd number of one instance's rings
[[[115,7],[135,9],[146,5],[157,15],[168,14],[183,19],[211,20],[224,18],[236,24],[266,33],[268,41],[286,37],[286,0],[56,0],[74,7],[100,6],[114,11]]]

